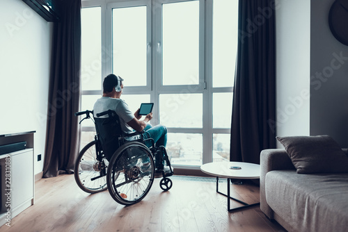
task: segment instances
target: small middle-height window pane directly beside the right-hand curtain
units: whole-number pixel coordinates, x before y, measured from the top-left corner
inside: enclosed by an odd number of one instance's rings
[[[230,128],[232,117],[232,92],[213,94],[213,127]]]

